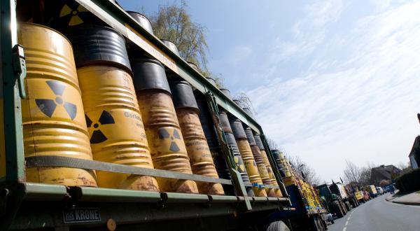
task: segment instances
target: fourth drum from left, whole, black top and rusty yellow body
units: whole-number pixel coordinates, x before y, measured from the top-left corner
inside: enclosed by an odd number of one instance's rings
[[[200,110],[195,101],[193,88],[186,80],[173,80],[169,85],[193,173],[218,179],[210,148],[198,117]],[[202,194],[225,194],[220,183],[197,182],[197,187]]]

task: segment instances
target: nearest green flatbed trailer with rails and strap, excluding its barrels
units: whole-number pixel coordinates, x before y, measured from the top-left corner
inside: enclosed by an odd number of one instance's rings
[[[19,1],[19,4],[23,1]],[[218,123],[218,110],[251,127],[259,134],[267,151],[269,163],[275,166],[267,141],[260,125],[221,90],[209,83],[202,74],[184,59],[170,50],[159,38],[149,33],[121,8],[108,0],[76,0],[83,9],[97,16],[102,22],[122,34],[127,41],[137,45],[149,56],[158,59],[167,69],[188,81],[195,90],[207,97],[218,127],[223,155],[232,179],[146,169],[127,165],[80,160],[71,158],[25,158],[22,135],[21,99],[25,99],[25,47],[18,44],[18,22],[15,0],[0,3],[1,31],[1,156],[0,169],[0,230],[263,230],[267,227],[283,227],[283,221],[293,217],[288,191],[293,194],[296,211],[318,220],[323,209],[308,209],[302,203],[302,195],[296,186],[288,190],[281,181],[278,169],[274,169],[276,186],[282,197],[248,196],[246,187],[235,166],[232,152],[225,145],[225,134]],[[68,167],[103,172],[117,172],[167,179],[184,179],[207,183],[221,183],[234,192],[231,195],[204,195],[167,193],[116,188],[63,186],[26,181],[28,167]],[[288,214],[273,218],[273,214]],[[294,219],[294,218],[293,218]],[[298,219],[298,218],[297,218]],[[305,218],[307,221],[307,218]],[[309,219],[310,220],[310,219]],[[298,220],[296,220],[298,222]],[[302,221],[304,223],[304,221]],[[279,229],[277,229],[279,230]]]

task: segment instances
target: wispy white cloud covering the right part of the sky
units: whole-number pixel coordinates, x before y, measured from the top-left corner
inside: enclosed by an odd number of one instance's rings
[[[270,78],[248,92],[265,133],[327,181],[338,179],[345,159],[359,165],[407,162],[420,128],[420,3],[380,6],[345,39],[326,39],[326,25],[337,22],[340,7],[338,1],[309,6],[313,14],[293,27],[296,40],[278,40],[281,52],[273,52],[281,58],[272,64],[308,55],[300,48],[321,43],[348,53],[316,59],[302,77]],[[314,29],[305,31],[309,27]],[[318,40],[308,41],[311,35]]]

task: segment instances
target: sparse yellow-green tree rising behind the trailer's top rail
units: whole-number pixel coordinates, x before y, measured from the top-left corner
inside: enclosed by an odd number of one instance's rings
[[[175,43],[183,59],[197,64],[204,76],[211,76],[207,69],[209,46],[206,41],[206,28],[192,21],[186,1],[181,1],[179,5],[161,5],[158,13],[150,15],[149,18],[155,36]]]

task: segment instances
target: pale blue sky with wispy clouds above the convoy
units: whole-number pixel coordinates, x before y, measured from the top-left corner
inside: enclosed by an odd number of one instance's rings
[[[155,13],[179,1],[118,1]],[[420,1],[186,1],[209,69],[246,92],[265,134],[339,180],[345,161],[409,162],[419,134]]]

